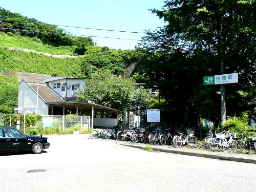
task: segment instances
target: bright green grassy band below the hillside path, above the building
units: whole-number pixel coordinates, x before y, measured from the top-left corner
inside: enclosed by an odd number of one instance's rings
[[[81,77],[82,58],[60,59],[37,53],[0,49],[0,70]]]

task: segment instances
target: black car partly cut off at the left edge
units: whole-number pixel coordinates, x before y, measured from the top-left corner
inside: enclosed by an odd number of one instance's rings
[[[32,151],[39,154],[49,146],[47,138],[42,135],[27,136],[13,126],[0,126],[0,153]]]

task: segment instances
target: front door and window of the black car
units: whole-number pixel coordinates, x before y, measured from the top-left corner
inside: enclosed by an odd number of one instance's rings
[[[20,133],[15,127],[3,128],[5,144],[8,151],[28,150],[29,141],[25,135]]]

